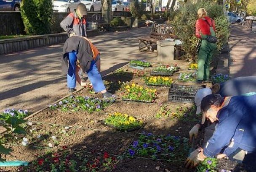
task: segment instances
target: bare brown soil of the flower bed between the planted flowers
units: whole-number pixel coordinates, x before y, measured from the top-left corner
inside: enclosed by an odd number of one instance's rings
[[[152,67],[158,64],[152,63]],[[179,72],[187,70],[187,63],[184,61],[178,61],[178,65],[181,66]],[[132,71],[134,69],[128,66],[124,68],[127,71]],[[144,71],[147,72],[146,76],[150,75],[150,70],[152,68],[147,68]],[[174,73],[171,77],[174,83],[179,83],[178,77],[179,72]],[[108,76],[103,77],[106,81],[113,81],[120,84],[120,82],[132,82],[138,83],[141,86],[145,86],[142,77],[138,76],[125,76],[120,73],[112,73]],[[188,85],[197,85],[193,83],[186,83]],[[38,156],[45,156],[49,151],[61,151],[67,149],[70,152],[82,151],[85,155],[82,157],[92,156],[97,157],[99,154],[103,155],[105,152],[114,155],[123,155],[127,150],[128,146],[133,143],[134,139],[138,137],[139,133],[153,133],[154,135],[168,135],[179,136],[180,138],[188,138],[188,132],[197,122],[194,121],[182,121],[182,120],[171,120],[170,118],[160,118],[156,119],[157,112],[160,111],[160,107],[169,104],[173,111],[176,110],[178,106],[185,106],[182,103],[169,103],[168,100],[168,88],[164,87],[152,87],[157,89],[158,95],[157,99],[152,104],[140,103],[140,102],[123,102],[121,100],[121,92],[119,89],[121,85],[109,84],[107,88],[115,93],[117,96],[117,101],[114,104],[110,104],[105,109],[100,112],[85,112],[85,111],[68,111],[63,112],[60,109],[45,109],[42,112],[29,118],[29,121],[33,121],[32,125],[26,126],[27,136],[18,136],[14,142],[10,142],[18,145],[5,145],[8,148],[13,149],[11,155],[2,156],[7,161],[10,160],[22,160],[32,162],[37,159]],[[109,88],[110,87],[110,88]],[[74,94],[74,96],[92,96],[101,98],[101,94],[90,94],[87,89],[83,89]],[[186,104],[186,106],[192,106]],[[144,123],[141,130],[131,131],[131,132],[117,132],[115,129],[102,125],[100,121],[105,120],[109,113],[120,112],[126,113],[136,117],[138,120],[142,120]],[[192,118],[193,120],[194,118]],[[197,118],[195,118],[197,119]],[[190,120],[190,118],[189,118]],[[42,122],[42,123],[38,123]],[[65,126],[69,128],[65,129]],[[32,128],[37,133],[32,133],[30,130]],[[66,130],[63,133],[62,130]],[[43,131],[45,135],[40,132]],[[62,132],[62,133],[61,133]],[[44,139],[37,139],[36,136],[41,134]],[[32,135],[32,136],[31,136]],[[53,142],[52,136],[56,136],[58,144]],[[203,132],[199,133],[196,139],[196,146],[200,146],[203,143]],[[33,147],[22,146],[21,141],[23,137],[27,137]],[[33,139],[32,139],[33,138]],[[32,143],[31,143],[32,142]],[[53,144],[53,148],[50,148],[48,143]],[[34,147],[35,146],[35,147]],[[42,146],[43,148],[37,147]],[[75,153],[71,153],[70,156],[74,156]],[[124,156],[123,159],[119,159],[113,172],[193,172],[195,169],[188,170],[184,168],[184,160],[187,154],[184,154],[181,161],[162,161],[153,159],[143,159],[143,158],[129,158]],[[117,156],[118,157],[118,156]],[[77,161],[77,167],[81,165],[79,160]],[[37,163],[37,162],[35,162]],[[236,166],[236,167],[235,167]],[[242,166],[237,166],[235,162],[230,162],[227,160],[221,160],[217,165],[218,169],[234,169],[234,172],[238,172],[237,169],[241,169]],[[100,167],[97,171],[103,171],[104,168]],[[17,172],[19,167],[1,167],[0,172]],[[43,170],[45,171],[45,170]],[[107,170],[110,171],[110,170]],[[241,172],[245,172],[241,170]]]

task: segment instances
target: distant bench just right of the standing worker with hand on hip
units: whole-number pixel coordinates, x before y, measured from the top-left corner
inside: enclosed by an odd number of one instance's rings
[[[96,25],[93,29],[99,29],[100,31],[106,31],[109,27],[109,23],[106,23],[100,14],[93,14],[93,16],[87,18],[87,21]]]

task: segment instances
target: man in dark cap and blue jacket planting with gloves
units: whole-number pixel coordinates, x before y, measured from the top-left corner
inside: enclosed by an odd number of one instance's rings
[[[255,155],[256,95],[221,97],[211,94],[203,98],[201,111],[203,122],[208,119],[217,125],[205,148],[198,148],[189,155],[185,162],[187,168],[197,166],[207,157],[227,157],[237,149]]]

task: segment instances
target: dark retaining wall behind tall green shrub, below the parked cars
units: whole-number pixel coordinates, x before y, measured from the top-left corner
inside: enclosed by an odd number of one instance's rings
[[[101,12],[88,12],[88,17],[91,17],[95,13],[101,14]],[[67,15],[68,13],[53,13],[52,33],[63,32],[63,29],[60,27],[60,22]],[[131,13],[127,11],[114,11],[114,16],[130,17]],[[0,23],[0,35],[25,34],[20,12],[0,11]]]

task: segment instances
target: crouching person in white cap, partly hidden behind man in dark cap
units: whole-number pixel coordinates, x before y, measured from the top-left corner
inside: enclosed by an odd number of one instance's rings
[[[201,102],[202,99],[209,94],[220,94],[222,97],[226,96],[239,96],[239,95],[254,95],[256,94],[256,76],[246,76],[238,77],[226,81],[224,83],[217,83],[212,86],[212,88],[200,89],[195,94],[195,104],[197,106],[196,114],[201,112]],[[205,119],[194,125],[194,127],[189,131],[189,139],[195,138],[198,135],[198,131],[205,124]]]

